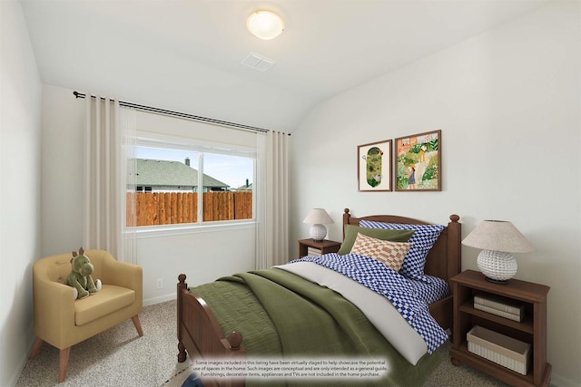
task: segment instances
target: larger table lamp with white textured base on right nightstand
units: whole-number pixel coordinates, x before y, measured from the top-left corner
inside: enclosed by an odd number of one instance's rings
[[[511,253],[528,253],[533,247],[512,223],[504,220],[484,220],[462,245],[482,249],[478,254],[478,268],[486,279],[506,284],[517,274],[517,260]]]

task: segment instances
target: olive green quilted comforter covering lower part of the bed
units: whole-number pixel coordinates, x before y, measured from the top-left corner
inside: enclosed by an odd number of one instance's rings
[[[355,305],[322,287],[281,269],[241,273],[191,289],[211,306],[225,334],[238,331],[247,358],[325,357],[385,359],[382,380],[302,382],[278,385],[421,385],[441,360],[439,352],[408,363]],[[247,380],[247,385],[261,384]],[[262,385],[275,385],[269,380]]]

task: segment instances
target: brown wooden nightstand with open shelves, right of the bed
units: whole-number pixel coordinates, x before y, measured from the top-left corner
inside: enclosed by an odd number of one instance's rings
[[[450,281],[454,295],[453,344],[450,348],[452,363],[467,363],[511,385],[547,386],[551,377],[551,364],[547,363],[547,293],[550,288],[514,278],[508,280],[506,285],[493,284],[474,270],[466,270],[453,276]],[[525,316],[519,322],[475,309],[475,295],[500,296],[522,302]],[[532,348],[527,374],[514,372],[468,352],[467,334],[475,325],[529,343]]]

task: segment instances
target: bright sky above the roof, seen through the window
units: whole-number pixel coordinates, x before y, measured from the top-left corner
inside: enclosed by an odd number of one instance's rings
[[[190,158],[190,166],[198,169],[198,152],[185,150],[162,150],[155,148],[135,148],[137,159],[168,160],[184,162]],[[254,160],[225,156],[214,153],[204,153],[203,173],[228,184],[231,188],[239,188],[246,184],[246,179],[252,183],[254,176]]]

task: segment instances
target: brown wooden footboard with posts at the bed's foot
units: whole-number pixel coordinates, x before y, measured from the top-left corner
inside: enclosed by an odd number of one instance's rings
[[[186,276],[178,276],[177,284],[177,335],[178,362],[186,359],[186,351],[192,360],[208,358],[241,358],[245,356],[241,346],[242,335],[232,332],[228,338],[222,334],[222,328],[202,297],[190,293],[185,282]],[[243,380],[223,381],[204,380],[204,386],[244,385]],[[225,383],[225,384],[224,384]]]

